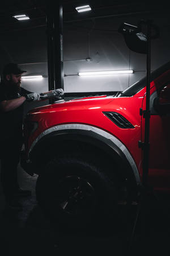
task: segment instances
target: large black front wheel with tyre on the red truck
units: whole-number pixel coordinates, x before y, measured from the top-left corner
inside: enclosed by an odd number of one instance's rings
[[[53,220],[86,224],[117,205],[115,180],[91,161],[77,156],[53,159],[37,179],[40,207]]]

